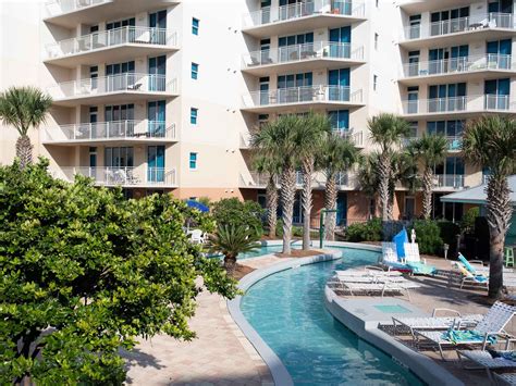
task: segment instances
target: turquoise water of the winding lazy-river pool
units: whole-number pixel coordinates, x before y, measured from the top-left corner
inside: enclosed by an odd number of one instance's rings
[[[378,259],[377,252],[342,251],[343,260],[283,271],[258,282],[243,298],[244,315],[296,385],[422,385],[325,310],[324,284],[333,270]]]

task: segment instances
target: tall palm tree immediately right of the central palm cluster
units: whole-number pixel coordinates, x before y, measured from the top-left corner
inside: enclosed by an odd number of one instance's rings
[[[378,163],[379,196],[382,204],[382,221],[392,220],[389,215],[389,180],[391,176],[391,158],[394,146],[407,137],[410,125],[395,114],[382,113],[368,121],[368,127],[373,144],[380,147]]]

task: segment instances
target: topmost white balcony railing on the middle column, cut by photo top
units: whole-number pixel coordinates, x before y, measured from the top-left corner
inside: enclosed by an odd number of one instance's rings
[[[269,23],[286,22],[318,14],[364,17],[366,5],[352,0],[308,0],[282,7],[267,7],[244,15],[244,28]]]

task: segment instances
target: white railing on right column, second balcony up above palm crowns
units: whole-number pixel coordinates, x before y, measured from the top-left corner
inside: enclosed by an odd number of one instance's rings
[[[511,55],[488,53],[483,55],[470,55],[428,62],[405,63],[403,66],[403,76],[429,76],[467,73],[482,70],[513,70],[515,67],[516,65],[513,63]]]

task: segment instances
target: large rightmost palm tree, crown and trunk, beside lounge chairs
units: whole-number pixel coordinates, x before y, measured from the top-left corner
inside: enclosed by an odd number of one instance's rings
[[[513,212],[507,176],[516,169],[516,121],[482,116],[466,124],[463,138],[465,158],[491,175],[486,188],[490,232],[489,297],[500,298],[503,288],[503,247]]]

